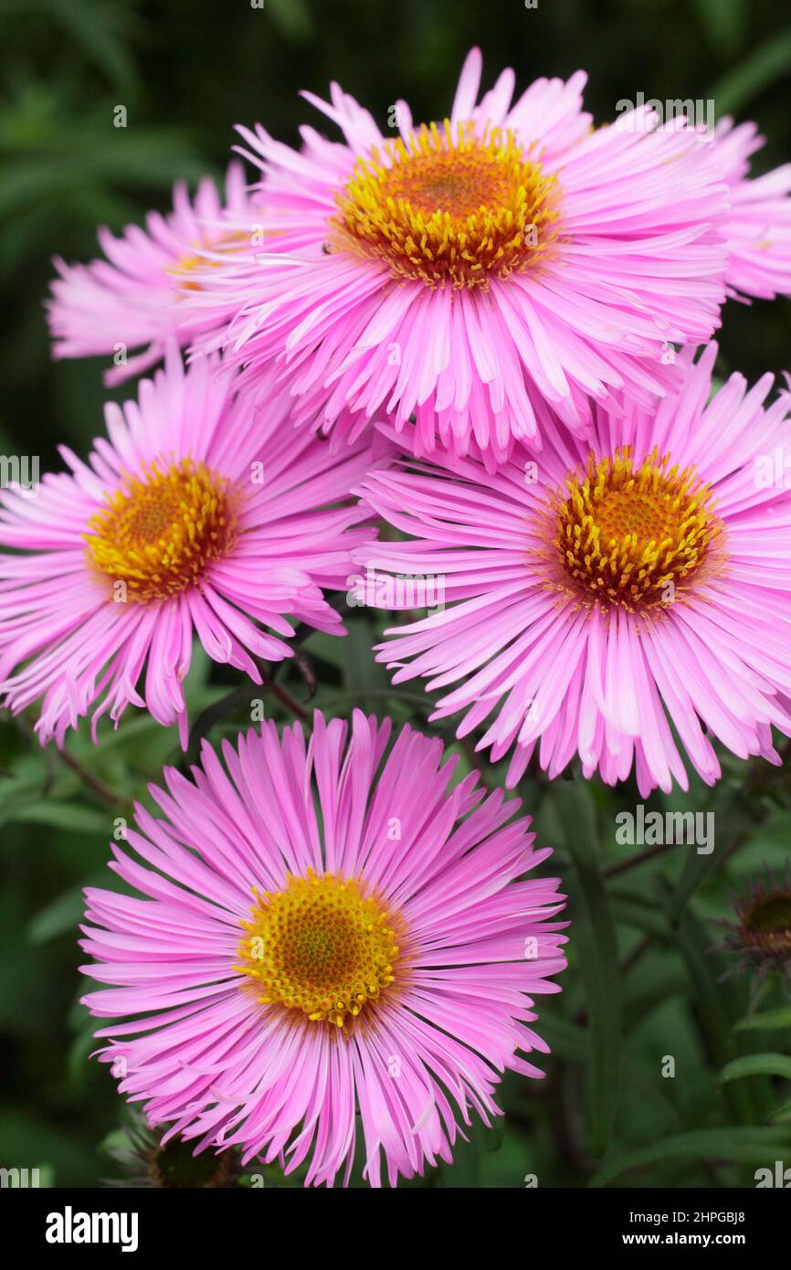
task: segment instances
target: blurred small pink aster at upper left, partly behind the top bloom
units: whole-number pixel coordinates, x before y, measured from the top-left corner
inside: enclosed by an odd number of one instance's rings
[[[114,354],[107,384],[119,384],[149,370],[163,357],[169,339],[187,344],[207,323],[184,304],[198,286],[198,268],[227,253],[253,257],[255,220],[260,213],[248,197],[241,164],[229,166],[225,203],[208,177],[190,202],[187,187],[176,184],[173,211],[150,212],[146,230],[130,225],[122,237],[99,230],[104,260],[69,265],[56,259],[60,278],[52,283],[50,328],[56,357]],[[211,325],[211,323],[208,324]],[[147,345],[127,359],[127,349]]]

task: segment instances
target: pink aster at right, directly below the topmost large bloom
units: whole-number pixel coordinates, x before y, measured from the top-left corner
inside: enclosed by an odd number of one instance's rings
[[[396,682],[443,690],[434,718],[463,710],[460,735],[496,711],[479,748],[498,761],[515,745],[509,784],[537,745],[551,777],[579,753],[609,784],[634,766],[642,794],[687,787],[679,751],[714,784],[711,737],[778,762],[771,728],[791,730],[788,395],[762,409],[772,377],[748,391],[733,375],[707,405],[715,357],[715,344],[697,364],[684,354],[683,386],[655,414],[599,408],[585,441],[547,431],[538,455],[519,447],[496,475],[470,456],[405,461],[363,485],[413,541],[358,561],[375,578],[442,579],[448,601],[387,631],[380,659]]]

